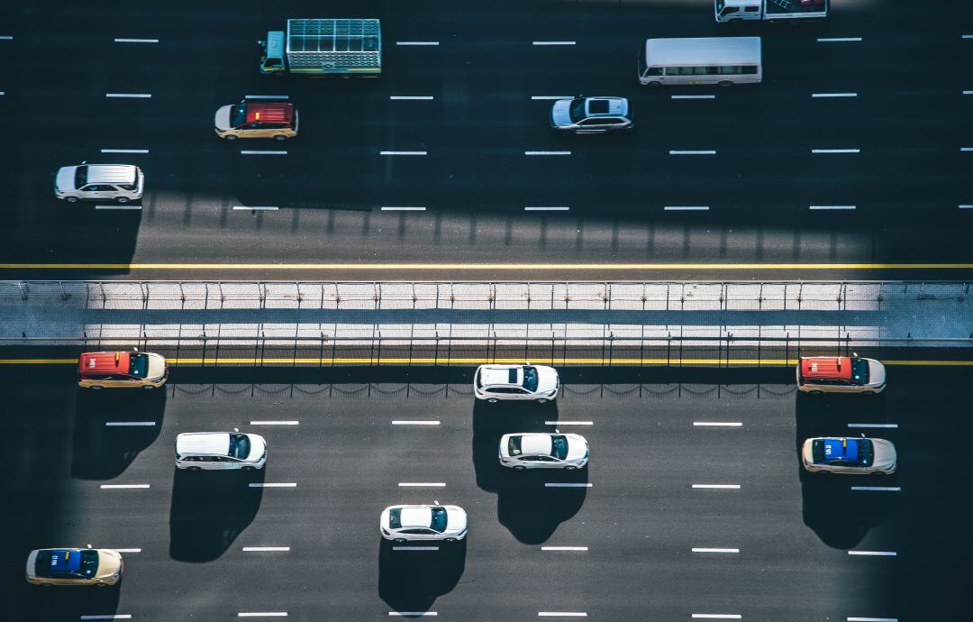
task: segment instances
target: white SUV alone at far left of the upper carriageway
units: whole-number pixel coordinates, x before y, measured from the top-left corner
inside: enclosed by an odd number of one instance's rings
[[[136,165],[62,166],[54,176],[54,197],[62,201],[138,201],[145,175]]]

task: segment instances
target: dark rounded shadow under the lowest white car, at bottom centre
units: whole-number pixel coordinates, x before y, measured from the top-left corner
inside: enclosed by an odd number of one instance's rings
[[[395,550],[439,546],[437,551]],[[392,610],[418,615],[459,582],[466,567],[466,540],[458,542],[378,543],[378,597]]]

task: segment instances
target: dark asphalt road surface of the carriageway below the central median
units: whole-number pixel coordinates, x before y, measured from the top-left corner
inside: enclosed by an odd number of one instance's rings
[[[79,392],[69,369],[0,372],[15,452],[4,489],[19,508],[5,517],[8,611],[33,619],[228,619],[253,611],[365,619],[426,610],[468,620],[710,612],[770,621],[937,619],[930,616],[955,615],[962,604],[970,496],[965,454],[949,447],[969,433],[955,394],[966,378],[960,370],[891,368],[882,397],[850,400],[799,398],[764,371],[725,384],[729,377],[718,372],[710,381],[695,371],[659,383],[639,382],[634,371],[572,370],[558,404],[537,407],[473,404],[464,370],[438,381],[432,372],[339,370],[315,384],[250,384],[246,374],[234,384],[205,374],[133,395]],[[590,467],[500,472],[499,435],[555,427],[546,421],[588,437]],[[847,428],[852,422],[899,427]],[[234,427],[266,436],[266,472],[175,472],[176,434]],[[859,431],[896,443],[898,474],[801,474],[796,448],[804,438]],[[901,491],[852,492],[852,485]],[[384,505],[434,499],[466,508],[465,545],[433,553],[380,544],[375,522]],[[29,549],[88,543],[141,549],[126,554],[120,589],[54,590],[41,599],[22,583]],[[243,551],[268,546],[290,550]]]

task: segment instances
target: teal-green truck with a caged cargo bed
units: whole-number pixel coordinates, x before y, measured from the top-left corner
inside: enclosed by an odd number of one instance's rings
[[[378,19],[288,19],[286,31],[270,30],[259,43],[263,74],[381,74]]]

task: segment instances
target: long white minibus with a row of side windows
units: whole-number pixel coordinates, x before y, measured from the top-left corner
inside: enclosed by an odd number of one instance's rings
[[[719,85],[763,79],[760,37],[646,39],[638,51],[642,85]]]

